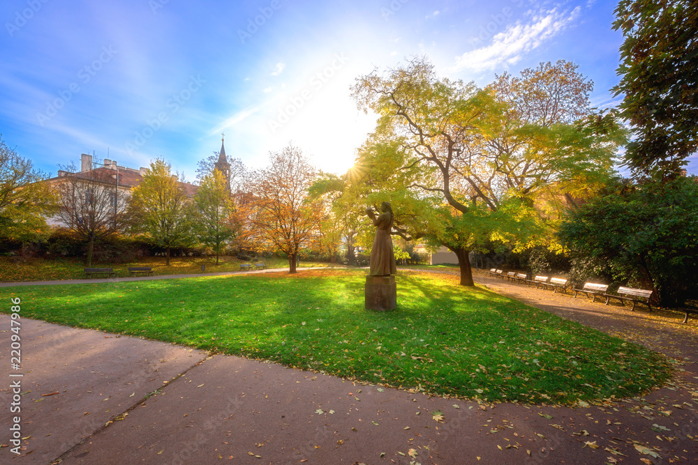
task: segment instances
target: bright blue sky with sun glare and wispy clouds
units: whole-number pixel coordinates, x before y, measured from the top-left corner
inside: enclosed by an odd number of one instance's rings
[[[134,168],[162,156],[193,181],[221,132],[248,167],[292,142],[339,173],[375,123],[349,86],[410,56],[479,86],[573,61],[593,105],[615,105],[616,3],[6,0],[0,132],[51,174],[94,151]]]

